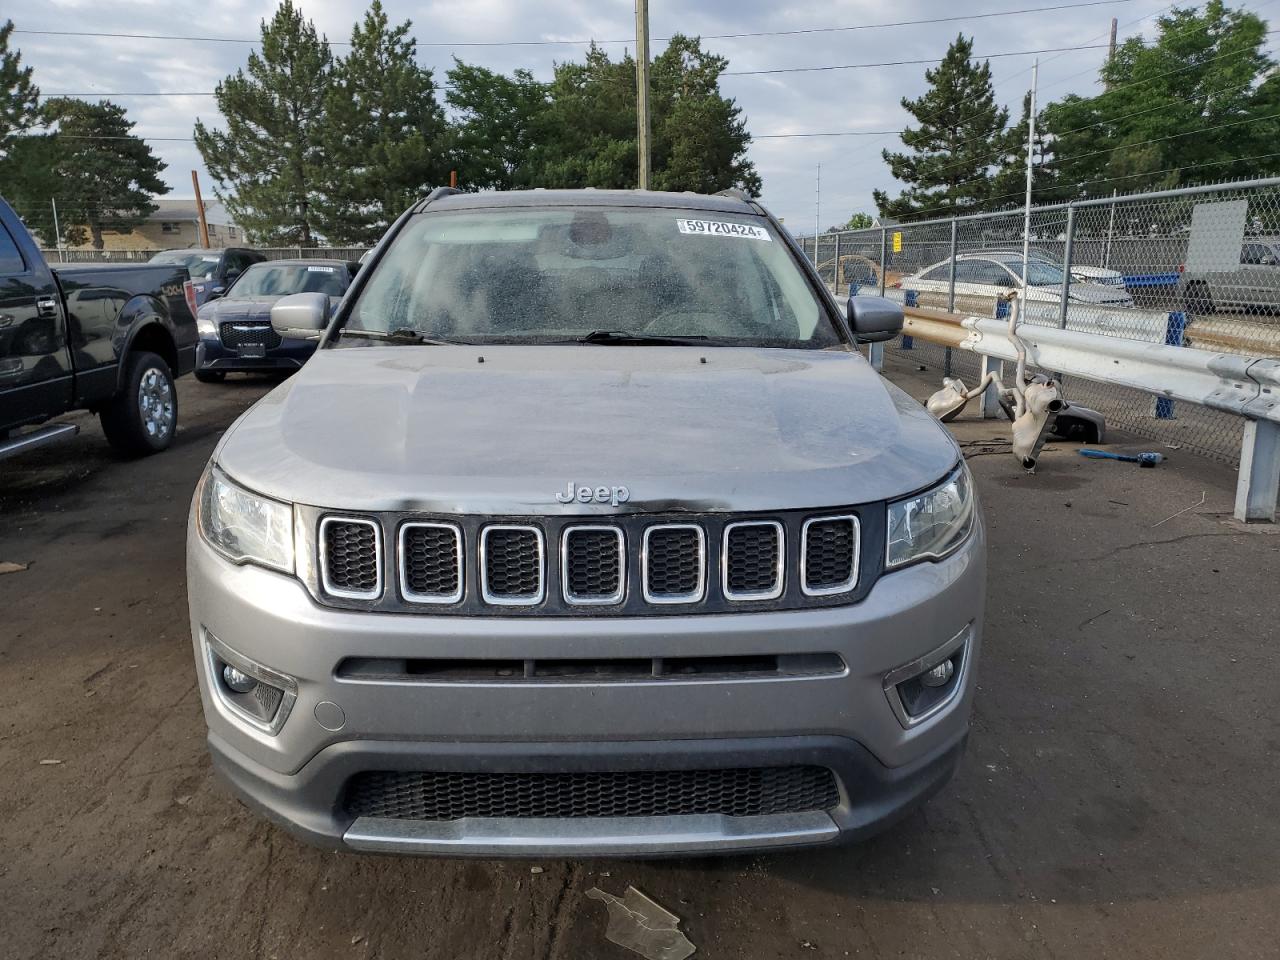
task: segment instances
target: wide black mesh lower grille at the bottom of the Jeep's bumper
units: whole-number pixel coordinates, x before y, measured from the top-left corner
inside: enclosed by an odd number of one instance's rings
[[[582,818],[769,814],[840,803],[826,767],[739,767],[594,773],[366,772],[347,786],[356,817],[457,820],[465,817]]]

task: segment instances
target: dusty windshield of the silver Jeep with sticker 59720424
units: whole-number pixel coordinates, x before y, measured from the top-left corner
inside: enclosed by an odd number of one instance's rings
[[[844,342],[764,219],[635,207],[419,216],[374,269],[346,329],[476,343],[603,330],[721,346]]]

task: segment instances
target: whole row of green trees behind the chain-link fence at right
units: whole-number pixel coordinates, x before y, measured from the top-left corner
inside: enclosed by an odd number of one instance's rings
[[[1151,41],[1120,44],[1101,69],[1098,95],[1071,93],[1037,109],[1033,202],[1280,169],[1280,72],[1266,41],[1261,17],[1210,0],[1160,17]],[[1020,205],[1029,95],[1010,124],[995,99],[989,61],[973,59],[973,40],[964,35],[924,77],[928,90],[901,101],[916,122],[901,133],[904,150],[882,151],[906,188],[897,196],[874,192],[881,216],[927,219]]]

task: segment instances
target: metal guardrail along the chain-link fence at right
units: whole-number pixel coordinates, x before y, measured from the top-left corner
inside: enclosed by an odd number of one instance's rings
[[[989,361],[1012,362],[1018,352],[1001,319],[905,307],[902,333]],[[1235,517],[1275,522],[1280,495],[1280,358],[1126,340],[1080,330],[1019,324],[1029,366],[1094,383],[1183,401],[1244,419]],[[983,406],[984,416],[991,413]]]

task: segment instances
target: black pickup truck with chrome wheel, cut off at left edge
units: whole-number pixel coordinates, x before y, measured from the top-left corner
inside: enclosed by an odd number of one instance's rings
[[[178,426],[174,378],[196,362],[187,270],[165,264],[51,269],[0,200],[0,458],[74,435],[73,410],[111,445],[163,451]]]

